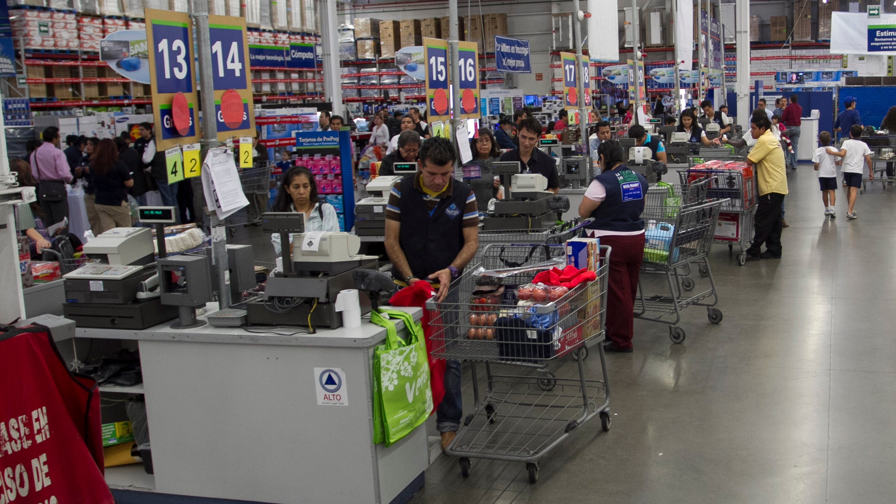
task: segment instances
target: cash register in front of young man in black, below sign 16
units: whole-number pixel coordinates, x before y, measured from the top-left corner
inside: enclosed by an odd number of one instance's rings
[[[569,198],[548,191],[547,178],[520,169],[520,161],[492,163],[492,172],[504,186],[504,199],[489,204],[483,230],[544,230],[569,210]]]

